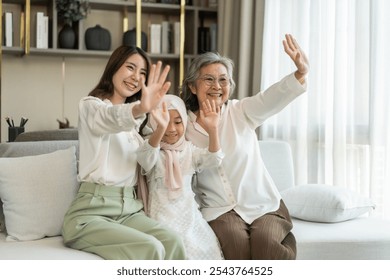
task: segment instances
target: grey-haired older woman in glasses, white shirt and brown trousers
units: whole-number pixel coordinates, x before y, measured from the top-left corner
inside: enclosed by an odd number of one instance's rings
[[[306,90],[306,55],[291,35],[283,45],[297,70],[254,96],[228,100],[235,88],[233,61],[217,53],[196,57],[183,81],[186,138],[194,145],[204,148],[209,142],[199,104],[209,100],[220,106],[218,131],[225,158],[219,167],[197,173],[194,191],[225,259],[296,258],[292,222],[261,159],[255,132]]]

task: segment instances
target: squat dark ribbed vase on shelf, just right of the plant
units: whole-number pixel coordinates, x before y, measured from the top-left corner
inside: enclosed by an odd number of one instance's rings
[[[97,24],[95,27],[90,27],[85,31],[85,47],[87,50],[104,50],[111,48],[110,32]]]

